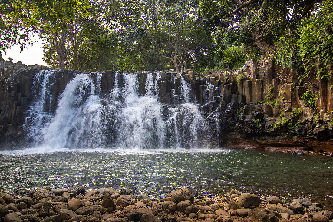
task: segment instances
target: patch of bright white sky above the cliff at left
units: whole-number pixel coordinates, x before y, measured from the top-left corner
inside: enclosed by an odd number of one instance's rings
[[[36,35],[34,37],[37,41],[23,52],[20,53],[20,46],[15,45],[12,46],[9,50],[6,51],[6,54],[2,54],[2,58],[4,60],[9,60],[8,57],[13,59],[13,62],[21,61],[26,65],[46,65],[43,60],[43,49],[41,48],[43,45],[42,40]]]

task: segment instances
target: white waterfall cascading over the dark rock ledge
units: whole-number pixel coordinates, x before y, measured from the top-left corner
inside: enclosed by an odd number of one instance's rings
[[[36,78],[41,75],[42,72]],[[121,74],[122,84],[118,82],[118,75],[117,72],[114,88],[101,98],[102,74],[97,73],[96,86],[89,74],[77,74],[60,96],[55,114],[47,112],[48,118],[42,121],[43,124],[31,121],[34,115],[26,118],[28,135],[38,138],[33,140],[34,145],[59,149],[209,147],[208,125],[199,108],[189,103],[189,84],[182,77],[181,99],[185,103],[167,106],[158,102],[160,73],[155,81],[153,73],[147,74],[144,96],[138,93],[138,74]],[[40,104],[48,97],[52,81],[45,79],[51,78],[48,76],[52,76],[52,72],[44,71],[43,76],[43,81],[41,78],[34,85],[36,93],[43,92],[46,96],[34,103],[31,110],[42,110]],[[41,92],[38,92],[39,88]]]

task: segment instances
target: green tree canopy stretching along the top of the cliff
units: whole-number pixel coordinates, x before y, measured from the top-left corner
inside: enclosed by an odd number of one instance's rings
[[[204,72],[270,56],[298,67],[300,78],[314,69],[322,77],[332,66],[332,6],[332,0],[3,0],[0,52],[24,49],[38,34],[49,66],[83,72]]]

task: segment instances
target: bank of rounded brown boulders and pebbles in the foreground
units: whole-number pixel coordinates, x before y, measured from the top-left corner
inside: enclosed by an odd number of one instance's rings
[[[128,188],[86,191],[83,186],[44,186],[8,194],[0,192],[1,222],[332,222],[333,213],[309,198],[288,202],[234,189],[224,196],[207,197],[182,188],[162,199],[137,195]]]

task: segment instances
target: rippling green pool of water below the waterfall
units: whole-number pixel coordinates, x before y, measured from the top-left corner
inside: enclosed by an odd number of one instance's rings
[[[0,150],[1,188],[128,187],[163,197],[189,187],[194,194],[230,189],[282,199],[311,197],[333,209],[333,159],[245,149]]]

